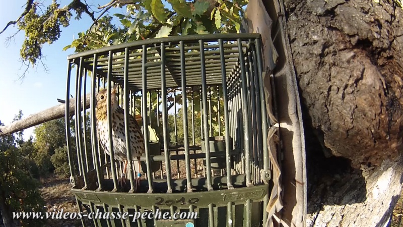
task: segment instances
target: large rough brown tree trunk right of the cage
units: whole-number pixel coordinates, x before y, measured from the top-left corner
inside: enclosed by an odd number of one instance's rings
[[[308,226],[382,226],[400,195],[403,11],[375,2],[284,2],[304,111]]]

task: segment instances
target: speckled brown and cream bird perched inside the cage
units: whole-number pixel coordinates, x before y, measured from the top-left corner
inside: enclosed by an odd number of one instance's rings
[[[127,168],[127,155],[126,155],[126,135],[124,126],[124,109],[118,105],[117,101],[117,87],[115,84],[111,89],[111,112],[112,112],[112,141],[114,158],[124,162],[123,172],[118,184],[123,187],[126,184],[124,173]],[[107,116],[107,89],[102,89],[96,96],[95,105],[95,118],[98,140],[104,151],[110,155],[109,149],[109,131],[108,131],[108,116]],[[139,123],[133,116],[128,115],[129,125],[129,138],[131,148],[131,159],[137,158],[139,163],[139,173],[136,178],[136,189],[140,185],[141,179],[141,163],[140,156],[144,153],[144,138]]]

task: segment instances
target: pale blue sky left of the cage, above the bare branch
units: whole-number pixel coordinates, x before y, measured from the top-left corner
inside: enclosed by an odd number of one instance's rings
[[[44,5],[51,1],[46,0]],[[61,6],[71,1],[58,1]],[[88,4],[95,6],[104,5],[109,1],[89,0]],[[95,4],[96,3],[96,4]],[[11,20],[16,20],[23,12],[26,1],[8,1],[6,6],[0,8],[0,29]],[[95,10],[95,7],[94,7]],[[125,13],[125,9],[114,9],[113,13]],[[67,56],[74,49],[62,51],[62,48],[71,44],[74,37],[82,31],[86,31],[92,24],[92,20],[83,14],[80,21],[71,21],[68,28],[63,28],[61,37],[52,45],[44,44],[42,53],[45,55],[44,64],[47,72],[41,65],[30,67],[23,80],[19,76],[26,69],[20,62],[20,48],[24,40],[23,31],[19,32],[8,46],[6,38],[17,31],[17,26],[10,26],[3,34],[0,34],[0,121],[5,125],[12,122],[14,116],[21,109],[24,117],[59,104],[57,98],[64,99],[67,72]],[[73,79],[73,78],[72,78]],[[73,80],[74,81],[74,80]],[[74,94],[74,93],[73,93]],[[24,137],[28,138],[33,127],[24,131]]]

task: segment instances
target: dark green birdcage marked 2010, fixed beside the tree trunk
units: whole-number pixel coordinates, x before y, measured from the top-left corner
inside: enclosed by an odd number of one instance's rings
[[[259,34],[209,34],[141,40],[68,57],[66,98],[74,95],[76,102],[74,111],[65,108],[66,137],[80,210],[130,217],[183,212],[178,219],[92,219],[94,226],[265,223],[271,166],[261,49]],[[96,95],[115,84],[126,142],[129,115],[146,141],[137,190],[137,160],[128,161],[127,184],[119,186],[123,163],[107,155],[97,138]],[[112,111],[110,98],[107,108]]]

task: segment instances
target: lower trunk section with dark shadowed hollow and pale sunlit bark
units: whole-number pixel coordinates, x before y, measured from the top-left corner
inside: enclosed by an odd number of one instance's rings
[[[385,226],[400,197],[402,173],[401,162],[385,160],[327,175],[310,188],[307,226]]]

